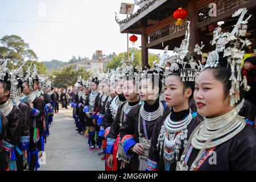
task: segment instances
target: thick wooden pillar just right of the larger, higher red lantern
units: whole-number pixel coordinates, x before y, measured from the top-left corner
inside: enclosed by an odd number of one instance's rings
[[[190,39],[188,51],[191,52],[195,48],[196,44],[200,44],[199,30],[197,30],[197,11],[196,11],[196,0],[191,0],[188,3],[188,19],[190,21]],[[189,53],[189,59],[192,55],[195,55],[193,52]]]

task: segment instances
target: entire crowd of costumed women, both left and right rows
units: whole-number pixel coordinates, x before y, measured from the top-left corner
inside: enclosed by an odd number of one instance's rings
[[[77,133],[106,171],[256,170],[255,57],[243,49],[246,9],[232,32],[217,27],[215,49],[187,59],[189,24],[176,56],[168,46],[154,68],[134,67],[54,89],[36,67],[0,67],[0,170],[36,170],[59,103],[73,108]],[[203,46],[194,52],[202,56]],[[93,155],[93,154],[92,154]]]

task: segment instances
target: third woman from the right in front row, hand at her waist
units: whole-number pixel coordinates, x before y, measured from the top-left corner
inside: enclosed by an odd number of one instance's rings
[[[135,106],[127,114],[119,129],[123,150],[131,160],[133,171],[146,169],[150,139],[156,120],[163,115],[164,106],[159,101],[162,90],[163,71],[155,68],[142,75],[139,96],[142,105]]]

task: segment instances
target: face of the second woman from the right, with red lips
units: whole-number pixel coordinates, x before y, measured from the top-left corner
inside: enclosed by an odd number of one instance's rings
[[[188,98],[192,94],[192,89],[184,90],[183,82],[179,76],[168,76],[164,84],[164,95],[168,107],[179,106],[184,102],[188,102]]]

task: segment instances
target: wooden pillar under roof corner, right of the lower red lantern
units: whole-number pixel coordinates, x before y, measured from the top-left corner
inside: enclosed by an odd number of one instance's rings
[[[147,20],[142,19],[141,22],[141,62],[142,67],[148,64],[148,48],[146,47],[148,38],[146,34]]]

